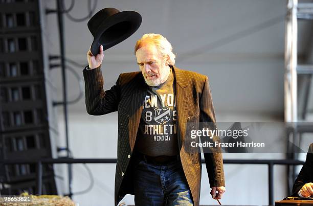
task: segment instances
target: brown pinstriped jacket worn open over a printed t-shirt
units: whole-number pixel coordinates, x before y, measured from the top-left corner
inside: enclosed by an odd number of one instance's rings
[[[199,205],[201,155],[190,151],[190,138],[185,138],[189,122],[215,122],[208,78],[195,72],[171,66],[176,80],[177,139],[183,169],[194,205]],[[126,194],[133,194],[131,154],[143,109],[147,85],[141,72],[120,74],[116,84],[103,90],[101,67],[83,70],[86,109],[90,115],[118,111],[118,160],[115,173],[115,205]],[[220,152],[204,153],[210,186],[225,186]],[[209,193],[209,191],[208,191]],[[209,194],[208,194],[209,195]]]

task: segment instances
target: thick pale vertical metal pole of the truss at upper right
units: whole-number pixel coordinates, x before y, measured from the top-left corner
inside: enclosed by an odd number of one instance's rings
[[[297,6],[298,0],[288,0],[285,21],[285,122],[297,118]]]

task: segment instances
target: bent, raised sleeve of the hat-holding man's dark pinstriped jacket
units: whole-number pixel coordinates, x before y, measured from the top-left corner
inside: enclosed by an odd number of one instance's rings
[[[101,65],[93,70],[83,70],[85,81],[85,102],[90,115],[105,115],[117,111],[120,97],[120,77],[109,90],[103,90]]]

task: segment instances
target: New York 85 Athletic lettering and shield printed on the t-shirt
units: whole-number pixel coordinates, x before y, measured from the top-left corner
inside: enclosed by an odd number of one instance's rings
[[[174,95],[146,95],[143,107],[145,138],[151,138],[153,141],[171,141],[173,135],[176,135]]]

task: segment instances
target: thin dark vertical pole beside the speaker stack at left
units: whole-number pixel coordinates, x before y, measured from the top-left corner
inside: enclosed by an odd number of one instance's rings
[[[61,56],[61,69],[62,69],[62,85],[63,85],[63,113],[65,123],[65,139],[67,157],[70,157],[70,144],[69,144],[69,129],[68,129],[68,105],[67,105],[67,89],[66,89],[66,73],[65,73],[65,44],[64,44],[64,27],[63,27],[63,0],[57,0],[58,10],[58,25],[59,25],[59,37],[60,37],[60,56]],[[72,165],[68,165],[69,170],[69,196],[72,197]]]

